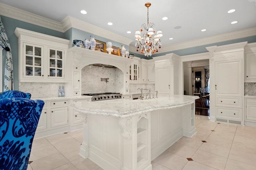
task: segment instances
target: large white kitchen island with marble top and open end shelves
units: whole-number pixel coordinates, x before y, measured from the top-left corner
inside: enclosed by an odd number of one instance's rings
[[[77,102],[83,119],[80,155],[104,170],[151,170],[151,160],[181,137],[192,137],[198,96]]]

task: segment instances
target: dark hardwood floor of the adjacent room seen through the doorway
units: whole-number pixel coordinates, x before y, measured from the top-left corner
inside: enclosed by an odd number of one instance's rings
[[[210,102],[206,98],[196,100],[196,115],[210,116]]]

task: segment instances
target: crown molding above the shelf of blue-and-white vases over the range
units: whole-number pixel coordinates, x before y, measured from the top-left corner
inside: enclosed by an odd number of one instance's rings
[[[92,33],[94,35],[98,35],[100,37],[104,37],[106,39],[110,39],[110,40],[122,43],[124,45],[128,45],[128,46],[133,41],[132,39],[123,37],[121,35],[118,35],[106,29],[102,29],[100,27],[97,27],[95,25],[92,25],[85,21],[78,20],[70,16],[67,16],[66,18],[64,18],[64,20],[62,20],[61,23],[65,31],[72,27],[72,28],[80,29],[82,31],[86,31],[88,33]]]

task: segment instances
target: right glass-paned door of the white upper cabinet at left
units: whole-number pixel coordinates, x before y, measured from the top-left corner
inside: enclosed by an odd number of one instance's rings
[[[49,49],[49,77],[64,78],[63,57],[64,51],[52,48]]]

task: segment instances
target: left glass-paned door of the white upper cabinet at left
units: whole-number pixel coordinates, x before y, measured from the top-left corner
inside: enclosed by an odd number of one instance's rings
[[[25,77],[43,76],[43,47],[31,44],[24,44],[24,73]]]

